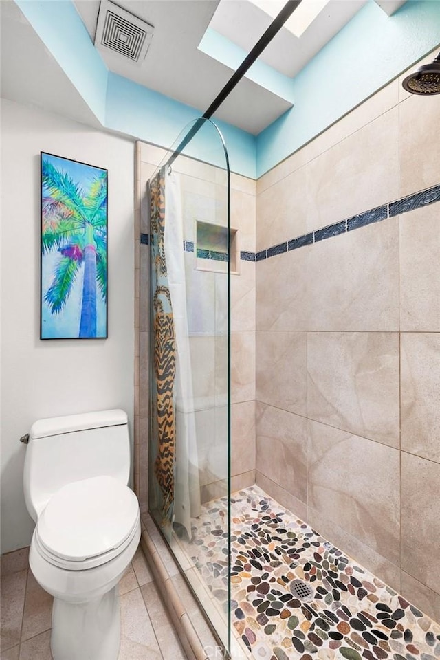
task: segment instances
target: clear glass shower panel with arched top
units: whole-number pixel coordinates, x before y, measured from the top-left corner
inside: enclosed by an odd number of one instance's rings
[[[188,131],[190,140],[185,139]],[[149,181],[148,505],[226,649],[230,643],[229,179],[228,156],[217,126],[197,120]]]

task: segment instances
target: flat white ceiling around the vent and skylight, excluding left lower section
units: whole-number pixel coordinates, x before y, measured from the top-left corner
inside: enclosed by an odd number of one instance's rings
[[[292,78],[366,1],[331,0],[329,10],[318,17],[318,25],[311,25],[301,39],[282,28],[262,61]],[[74,3],[94,40],[100,1]],[[249,52],[272,23],[268,14],[247,0],[117,0],[116,4],[153,25],[155,31],[140,66],[108,48],[100,48],[107,67],[202,112],[233,73],[233,69],[198,49],[207,28]],[[216,117],[257,135],[291,106],[282,96],[243,78]]]

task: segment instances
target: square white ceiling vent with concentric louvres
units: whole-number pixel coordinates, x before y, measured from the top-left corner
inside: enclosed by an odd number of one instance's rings
[[[154,28],[110,0],[101,0],[96,26],[98,50],[110,49],[140,65],[144,61]]]

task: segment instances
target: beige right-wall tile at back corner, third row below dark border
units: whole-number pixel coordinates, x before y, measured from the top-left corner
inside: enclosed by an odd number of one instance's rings
[[[257,403],[256,448],[256,470],[306,502],[307,419]]]

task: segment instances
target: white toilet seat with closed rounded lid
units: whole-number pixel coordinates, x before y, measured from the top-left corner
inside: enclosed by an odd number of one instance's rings
[[[97,476],[69,483],[50,498],[34,542],[51,564],[82,571],[120,554],[139,524],[133,491],[111,476]]]

